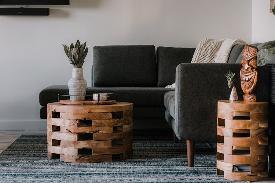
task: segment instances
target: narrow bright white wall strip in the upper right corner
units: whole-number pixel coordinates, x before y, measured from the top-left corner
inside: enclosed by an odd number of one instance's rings
[[[275,16],[270,10],[270,0],[252,0],[252,43],[275,39]]]

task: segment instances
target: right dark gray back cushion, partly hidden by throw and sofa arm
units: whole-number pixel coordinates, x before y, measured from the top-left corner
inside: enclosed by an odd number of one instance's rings
[[[196,48],[157,48],[158,87],[176,82],[178,64],[191,62]]]

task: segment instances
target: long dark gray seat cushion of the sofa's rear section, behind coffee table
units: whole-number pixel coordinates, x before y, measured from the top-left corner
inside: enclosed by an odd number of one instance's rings
[[[89,88],[99,93],[115,93],[117,101],[131,102],[134,106],[164,106],[163,98],[168,89],[163,87],[103,87]],[[46,106],[47,103],[58,102],[58,94],[69,93],[68,86],[54,85],[43,89],[39,94],[39,103]]]

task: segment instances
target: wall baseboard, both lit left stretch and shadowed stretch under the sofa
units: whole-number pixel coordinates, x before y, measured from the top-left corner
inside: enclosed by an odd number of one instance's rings
[[[166,120],[133,120],[134,129],[171,128]],[[2,130],[47,130],[47,121],[1,121]]]

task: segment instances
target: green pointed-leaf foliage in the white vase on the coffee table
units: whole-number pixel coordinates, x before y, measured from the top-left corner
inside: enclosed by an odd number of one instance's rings
[[[86,41],[87,42],[87,41]],[[81,68],[83,63],[85,62],[85,57],[87,56],[88,53],[88,47],[86,47],[86,42],[84,44],[80,44],[79,40],[76,41],[75,46],[73,43],[69,46],[63,45],[64,51],[69,58],[68,60],[71,61],[70,64],[73,65],[74,68]]]

